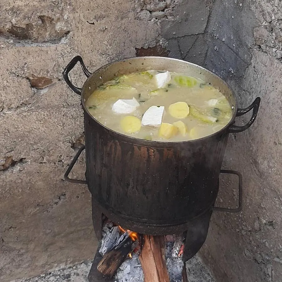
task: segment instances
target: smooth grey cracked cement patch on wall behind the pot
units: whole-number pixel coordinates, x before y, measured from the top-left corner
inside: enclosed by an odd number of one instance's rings
[[[211,7],[209,0],[181,1],[174,7],[174,20],[161,21],[161,35],[166,39],[170,57],[206,65]]]

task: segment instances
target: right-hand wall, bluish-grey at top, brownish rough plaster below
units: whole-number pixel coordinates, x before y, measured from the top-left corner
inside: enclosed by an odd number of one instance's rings
[[[219,282],[282,280],[281,20],[276,0],[216,0],[209,18],[207,68],[232,86],[240,107],[262,98],[252,127],[230,135],[223,164],[243,174],[243,212],[214,212],[200,251]],[[235,206],[236,178],[221,182],[217,205]]]

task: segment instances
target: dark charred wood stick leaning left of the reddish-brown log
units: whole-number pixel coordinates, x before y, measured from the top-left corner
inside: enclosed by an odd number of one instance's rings
[[[120,242],[110,252],[106,253],[99,264],[97,270],[108,278],[112,278],[117,269],[121,266],[128,254],[132,251],[133,241],[128,236]]]

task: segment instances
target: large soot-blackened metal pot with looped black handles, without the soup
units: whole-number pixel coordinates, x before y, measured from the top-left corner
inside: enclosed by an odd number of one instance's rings
[[[68,77],[78,61],[87,76],[82,89],[74,86]],[[115,132],[91,116],[85,102],[98,86],[117,76],[145,70],[184,73],[212,84],[232,106],[231,121],[204,138],[157,142]],[[63,75],[68,86],[81,95],[84,111],[86,182],[72,182],[87,183],[92,198],[107,217],[125,228],[154,234],[159,233],[154,227],[179,226],[211,209],[217,197],[228,133],[242,132],[252,125],[259,110],[259,97],[248,108],[239,109],[234,93],[219,76],[201,66],[163,57],[120,60],[91,74],[82,58],[76,56]],[[252,109],[246,125],[233,124],[237,116]],[[66,172],[67,180],[74,162]]]

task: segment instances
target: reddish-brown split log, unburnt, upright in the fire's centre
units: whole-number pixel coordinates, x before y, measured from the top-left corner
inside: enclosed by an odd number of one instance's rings
[[[165,263],[164,236],[144,235],[139,256],[144,282],[170,282]]]

